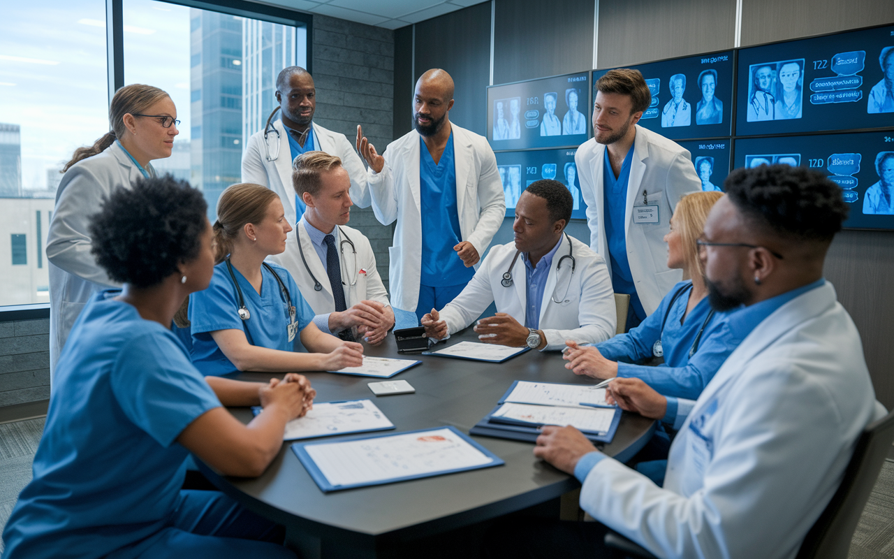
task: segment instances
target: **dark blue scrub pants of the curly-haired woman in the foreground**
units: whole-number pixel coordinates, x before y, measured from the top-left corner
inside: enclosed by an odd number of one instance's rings
[[[218,491],[181,491],[171,518],[149,538],[107,555],[109,559],[296,559],[283,547],[282,526],[258,516]]]

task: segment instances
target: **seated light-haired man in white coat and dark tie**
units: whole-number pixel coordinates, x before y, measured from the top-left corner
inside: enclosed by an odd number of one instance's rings
[[[350,341],[356,332],[367,343],[382,343],[394,312],[369,240],[346,225],[353,205],[348,172],[322,151],[308,151],[293,165],[294,191],[307,209],[285,250],[270,259],[289,270],[321,331]]]

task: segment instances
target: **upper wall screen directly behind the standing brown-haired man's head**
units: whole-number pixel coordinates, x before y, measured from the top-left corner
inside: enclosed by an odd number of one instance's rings
[[[732,112],[732,51],[628,66],[642,72],[652,93],[639,125],[671,140],[729,136]],[[593,71],[596,80],[608,70]]]

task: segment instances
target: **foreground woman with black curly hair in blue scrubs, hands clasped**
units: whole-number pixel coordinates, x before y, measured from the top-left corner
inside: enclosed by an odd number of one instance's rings
[[[217,491],[183,491],[191,452],[257,476],[310,407],[304,377],[206,381],[169,326],[214,272],[202,193],[171,175],[118,187],[92,216],[95,293],[55,369],[34,478],[4,529],[5,559],[292,557],[282,527]],[[263,405],[248,425],[223,408]]]

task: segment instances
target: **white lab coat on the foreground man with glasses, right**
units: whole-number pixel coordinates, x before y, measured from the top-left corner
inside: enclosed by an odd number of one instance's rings
[[[664,488],[603,459],[581,506],[661,557],[795,557],[884,415],[874,400],[856,326],[824,284],[764,319],[696,402],[680,400],[694,407]]]

